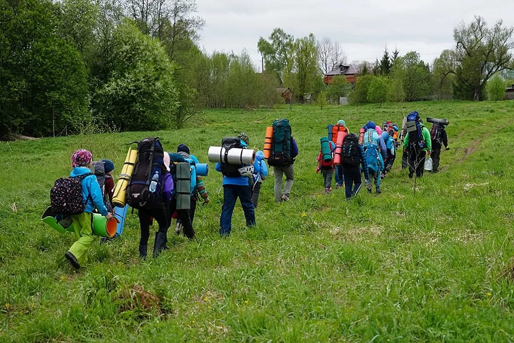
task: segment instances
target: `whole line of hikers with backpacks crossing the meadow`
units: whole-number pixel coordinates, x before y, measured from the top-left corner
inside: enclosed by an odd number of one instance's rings
[[[420,139],[413,132],[402,130],[399,139],[403,139],[405,148],[403,155],[408,156],[409,176],[412,176],[418,162],[425,159],[425,153],[438,149],[441,143],[448,148],[447,135],[444,125],[437,124],[437,129],[428,129],[421,123],[415,112],[415,125],[420,129]],[[409,114],[409,116],[411,116]],[[404,128],[407,130],[408,117]],[[436,124],[434,124],[436,125]],[[232,214],[237,198],[240,199],[247,226],[255,225],[254,209],[258,206],[259,193],[263,180],[268,175],[269,166],[273,167],[274,195],[277,203],[289,201],[294,180],[294,163],[298,155],[298,145],[292,137],[291,126],[287,119],[273,122],[272,137],[263,151],[255,153],[253,164],[216,163],[215,169],[223,175],[223,206],[220,215],[219,233],[227,237],[232,229]],[[395,160],[395,151],[399,147],[398,127],[391,121],[384,122],[382,128],[373,121],[366,123],[359,131],[359,136],[350,133],[344,120],[339,120],[329,129],[329,154],[331,161],[323,158],[323,151],[318,156],[318,169],[324,177],[325,192],[330,192],[332,178],[335,174],[336,188],[345,185],[346,198],[357,195],[364,173],[365,185],[371,193],[371,178],[375,181],[375,189],[380,193],[380,179],[391,171]],[[333,137],[340,132],[345,133],[343,140],[334,143]],[[412,135],[411,135],[412,134]],[[419,137],[418,137],[419,138]],[[421,144],[425,142],[425,145]],[[438,145],[432,145],[432,142]],[[416,143],[416,144],[414,144]],[[222,148],[225,158],[230,149],[248,149],[249,137],[244,132],[237,137],[224,138]],[[437,148],[438,147],[438,148]],[[423,153],[422,153],[423,152]],[[434,155],[436,150],[434,150]],[[340,163],[334,163],[339,155]],[[219,156],[222,158],[223,156]],[[58,213],[70,214],[77,241],[66,252],[65,257],[75,268],[80,268],[87,262],[87,250],[93,239],[93,212],[100,213],[106,219],[113,216],[112,174],[114,164],[103,159],[93,161],[93,155],[87,150],[78,150],[71,155],[72,171],[67,179],[59,179],[51,191],[52,206],[66,204],[66,208],[56,206]],[[403,160],[402,160],[403,164]],[[155,220],[158,224],[153,256],[157,257],[163,249],[167,249],[167,233],[172,220],[176,219],[175,232],[183,234],[192,240],[195,237],[193,229],[194,214],[199,198],[204,204],[209,203],[209,195],[204,181],[196,166],[198,158],[190,153],[189,147],[180,144],[176,153],[163,150],[158,138],[145,138],[138,142],[137,160],[133,164],[134,171],[130,176],[126,190],[126,203],[138,209],[141,236],[139,241],[139,256],[145,259],[148,255],[150,226]],[[183,170],[182,166],[187,169]],[[434,172],[437,171],[434,161]],[[423,174],[423,167],[420,174]],[[285,175],[285,187],[282,188]],[[61,182],[62,185],[58,186]],[[73,189],[74,191],[70,191]],[[61,191],[60,191],[61,190]],[[64,191],[63,191],[64,190]],[[108,239],[102,238],[102,242]]]

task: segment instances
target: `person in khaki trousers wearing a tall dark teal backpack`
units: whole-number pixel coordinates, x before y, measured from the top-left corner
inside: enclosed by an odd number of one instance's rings
[[[273,121],[273,138],[271,155],[268,165],[273,167],[275,178],[275,202],[289,201],[292,183],[295,180],[295,157],[298,155],[298,145],[291,135],[291,125],[288,119]],[[282,177],[285,174],[286,183],[282,190]]]

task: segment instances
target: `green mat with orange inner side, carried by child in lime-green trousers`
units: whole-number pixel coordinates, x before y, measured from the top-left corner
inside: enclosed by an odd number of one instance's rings
[[[48,207],[43,215],[41,216],[41,220],[48,224],[53,229],[61,233],[65,232],[75,232],[75,228],[73,226],[73,222],[71,221],[70,216],[66,216],[63,220],[57,221],[57,214],[53,211],[52,207]],[[93,234],[100,237],[113,237],[116,233],[116,229],[118,227],[118,220],[115,217],[107,219],[101,215],[100,213],[93,213]]]

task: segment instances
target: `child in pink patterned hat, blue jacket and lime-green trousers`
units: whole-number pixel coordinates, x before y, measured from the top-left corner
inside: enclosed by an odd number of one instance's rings
[[[107,211],[103,202],[102,191],[97,178],[91,173],[93,166],[93,155],[87,150],[80,149],[71,155],[70,177],[80,180],[82,188],[82,203],[85,204],[84,210],[80,214],[71,215],[77,241],[66,251],[65,258],[76,269],[87,263],[87,250],[93,242],[93,210],[111,219],[113,214]],[[64,198],[62,198],[65,201]]]

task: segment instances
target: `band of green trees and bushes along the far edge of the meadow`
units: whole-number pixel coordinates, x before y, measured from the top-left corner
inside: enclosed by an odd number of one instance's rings
[[[0,139],[179,128],[205,107],[283,102],[278,87],[321,104],[496,99],[513,66],[512,28],[481,17],[456,26],[455,49],[431,64],[386,49],[356,63],[355,85],[343,76],[325,85],[323,75],[346,62],[339,42],[276,28],[257,42],[259,70],[246,51],[199,47],[194,0],[0,3]]]

